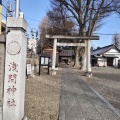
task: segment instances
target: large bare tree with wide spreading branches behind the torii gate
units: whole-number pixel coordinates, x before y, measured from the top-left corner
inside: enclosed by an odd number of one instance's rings
[[[120,0],[51,0],[51,3],[67,8],[69,15],[76,20],[79,35],[91,36],[102,25],[103,19],[119,9]],[[76,48],[76,65],[79,64],[78,51],[79,47]]]

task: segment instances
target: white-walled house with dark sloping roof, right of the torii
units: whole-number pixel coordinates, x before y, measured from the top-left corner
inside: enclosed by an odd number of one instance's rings
[[[120,61],[120,49],[114,44],[91,51],[92,66],[118,66]]]

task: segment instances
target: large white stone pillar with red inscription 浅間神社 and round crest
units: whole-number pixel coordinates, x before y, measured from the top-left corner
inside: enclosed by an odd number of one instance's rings
[[[3,120],[23,120],[27,23],[23,18],[8,17],[7,27]]]

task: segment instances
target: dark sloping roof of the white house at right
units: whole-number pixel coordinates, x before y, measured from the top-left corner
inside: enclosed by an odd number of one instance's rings
[[[98,49],[95,49],[95,50],[91,51],[91,55],[101,55],[101,54],[109,51],[112,48],[115,48],[118,51],[120,51],[114,44],[111,44],[111,45],[108,45],[108,46],[98,48]]]

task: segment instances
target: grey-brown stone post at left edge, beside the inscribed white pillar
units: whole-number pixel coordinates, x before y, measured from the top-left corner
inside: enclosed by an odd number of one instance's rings
[[[5,35],[0,35],[0,120],[3,110],[3,83],[5,73]]]

